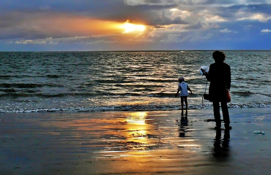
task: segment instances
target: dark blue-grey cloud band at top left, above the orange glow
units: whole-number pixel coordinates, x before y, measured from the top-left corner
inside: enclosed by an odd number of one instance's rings
[[[159,3],[159,1],[152,1]],[[101,20],[114,20],[119,22],[125,22],[129,19],[132,22],[144,22],[146,25],[155,25],[154,18],[163,18],[157,16],[157,12],[163,9],[170,9],[177,7],[177,4],[171,5],[136,5],[129,6],[124,3],[123,0],[103,0],[103,1],[3,1],[2,8],[0,7],[0,13],[7,13],[9,11],[21,11],[27,13],[37,13],[38,11],[44,11],[46,13],[59,12],[59,13],[73,13],[75,15],[88,16],[91,18]],[[3,8],[5,7],[5,8]],[[1,17],[0,17],[1,18]],[[169,23],[165,18],[163,21],[165,24]],[[176,23],[176,19],[172,20]]]

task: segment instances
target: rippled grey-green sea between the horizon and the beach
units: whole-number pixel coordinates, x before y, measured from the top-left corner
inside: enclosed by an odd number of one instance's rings
[[[212,52],[0,52],[0,112],[180,110],[180,76],[193,92],[188,109],[212,109],[200,74]],[[271,51],[223,52],[228,107],[271,107]]]

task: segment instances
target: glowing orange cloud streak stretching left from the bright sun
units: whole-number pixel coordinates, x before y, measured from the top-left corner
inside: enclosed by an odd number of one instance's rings
[[[20,14],[16,16],[18,15]],[[134,25],[128,23],[128,21],[120,23],[59,13],[50,15],[38,13],[34,17],[27,14],[23,15],[23,23],[16,26],[18,30],[25,31],[25,33],[37,33],[37,35],[47,38],[112,35],[132,32],[136,32],[134,34],[136,36],[139,32],[145,30],[144,25]],[[25,38],[27,39],[27,37]]]

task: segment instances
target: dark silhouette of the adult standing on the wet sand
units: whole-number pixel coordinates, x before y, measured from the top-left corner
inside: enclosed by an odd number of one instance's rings
[[[231,68],[228,64],[224,63],[225,54],[223,52],[213,52],[213,59],[215,63],[209,67],[209,72],[202,72],[210,82],[209,85],[209,96],[210,101],[213,102],[214,108],[214,120],[216,122],[215,129],[221,128],[220,120],[220,107],[221,103],[222,115],[225,129],[231,129],[229,111],[226,102],[226,90],[230,90],[231,87]]]

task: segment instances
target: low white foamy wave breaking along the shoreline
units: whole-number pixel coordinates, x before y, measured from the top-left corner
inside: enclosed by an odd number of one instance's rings
[[[228,108],[257,108],[271,107],[271,103],[229,103]],[[212,104],[189,105],[188,109],[212,109]],[[108,105],[93,107],[63,107],[43,109],[0,109],[0,112],[98,112],[98,111],[175,111],[180,110],[179,105]]]

